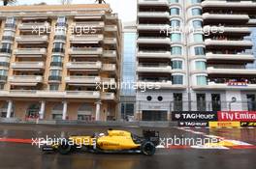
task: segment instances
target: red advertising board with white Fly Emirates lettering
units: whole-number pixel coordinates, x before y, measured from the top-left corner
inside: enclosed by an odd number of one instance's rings
[[[218,111],[218,121],[256,122],[256,111]]]

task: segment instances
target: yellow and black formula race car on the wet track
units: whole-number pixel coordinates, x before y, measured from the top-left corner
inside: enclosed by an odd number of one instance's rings
[[[70,136],[50,144],[45,143],[43,152],[58,152],[68,155],[72,152],[86,151],[91,153],[140,153],[154,155],[159,144],[159,132],[144,130],[143,137],[125,130],[109,129],[107,134],[94,133],[92,136]]]

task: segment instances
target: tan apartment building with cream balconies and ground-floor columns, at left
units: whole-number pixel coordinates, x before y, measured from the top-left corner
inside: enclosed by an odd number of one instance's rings
[[[121,23],[108,4],[0,7],[1,117],[115,120]],[[105,84],[105,90],[103,90]]]

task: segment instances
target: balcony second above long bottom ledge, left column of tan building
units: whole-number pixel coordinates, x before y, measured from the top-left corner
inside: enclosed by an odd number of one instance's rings
[[[15,62],[11,64],[14,70],[44,70],[44,62]]]

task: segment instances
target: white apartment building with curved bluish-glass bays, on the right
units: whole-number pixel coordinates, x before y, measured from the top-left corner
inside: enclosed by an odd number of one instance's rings
[[[173,111],[255,110],[256,2],[138,0],[137,119]]]

